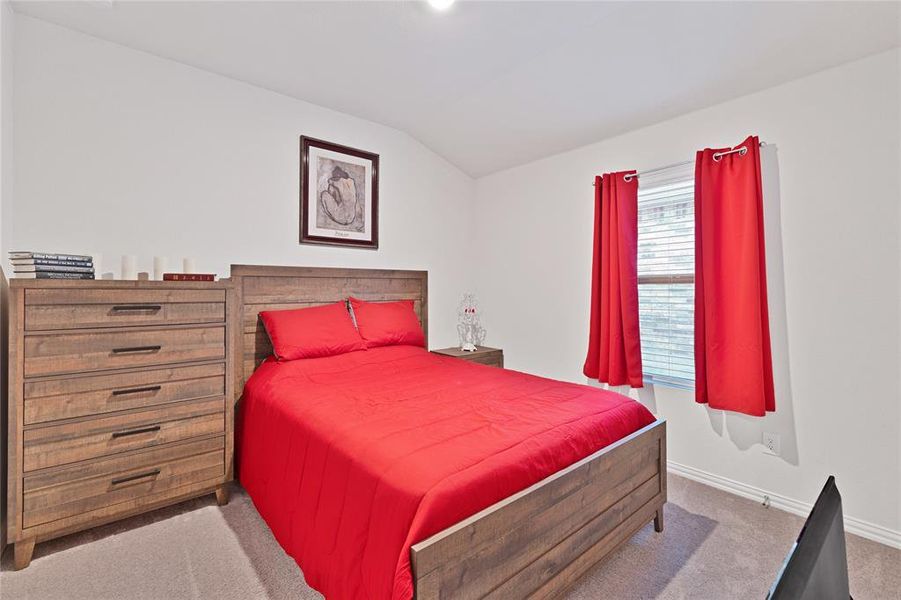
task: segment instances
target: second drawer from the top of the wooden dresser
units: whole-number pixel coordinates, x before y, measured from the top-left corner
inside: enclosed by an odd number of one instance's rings
[[[225,358],[225,327],[177,327],[25,336],[25,376]]]

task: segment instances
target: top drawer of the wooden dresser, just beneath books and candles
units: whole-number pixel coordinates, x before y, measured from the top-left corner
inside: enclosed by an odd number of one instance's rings
[[[25,330],[225,321],[224,290],[27,290]]]

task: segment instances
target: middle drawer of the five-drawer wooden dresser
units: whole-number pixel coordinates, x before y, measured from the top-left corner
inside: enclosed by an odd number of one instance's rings
[[[26,381],[25,424],[225,394],[225,363]]]

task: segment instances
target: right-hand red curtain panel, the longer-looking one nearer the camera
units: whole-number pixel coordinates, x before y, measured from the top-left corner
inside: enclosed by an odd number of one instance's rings
[[[695,165],[695,399],[776,410],[763,241],[760,144],[701,150]]]

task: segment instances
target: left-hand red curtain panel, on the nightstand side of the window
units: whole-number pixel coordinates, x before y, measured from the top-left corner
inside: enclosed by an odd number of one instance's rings
[[[610,385],[642,387],[638,333],[638,178],[596,177],[591,329],[582,371]]]

